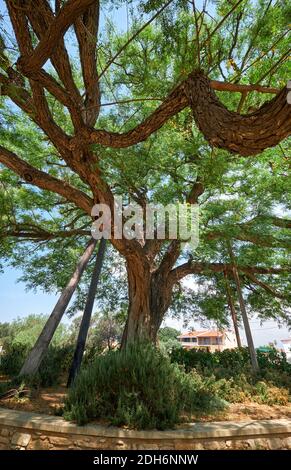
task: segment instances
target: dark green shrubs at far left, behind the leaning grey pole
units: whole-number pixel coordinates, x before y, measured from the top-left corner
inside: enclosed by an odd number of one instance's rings
[[[30,351],[28,345],[6,344],[5,352],[0,357],[0,374],[13,378],[17,376]],[[22,378],[32,387],[49,387],[59,383],[63,374],[67,373],[73,358],[73,346],[51,346],[39,368],[32,377]]]

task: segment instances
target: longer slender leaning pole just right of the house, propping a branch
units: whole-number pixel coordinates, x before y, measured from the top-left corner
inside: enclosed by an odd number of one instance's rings
[[[238,299],[239,299],[239,305],[240,305],[242,319],[243,319],[243,323],[244,323],[248,348],[249,348],[250,356],[251,356],[252,368],[253,368],[254,372],[258,372],[258,370],[259,370],[258,359],[257,359],[256,350],[255,350],[253,337],[252,337],[252,332],[251,332],[249,319],[248,319],[248,315],[247,315],[247,311],[246,311],[246,307],[245,307],[245,301],[244,301],[244,298],[243,298],[243,295],[242,295],[241,283],[240,283],[240,278],[239,278],[239,274],[238,274],[238,270],[237,270],[237,266],[236,266],[236,261],[235,261],[235,257],[234,257],[233,250],[232,250],[232,247],[231,247],[230,243],[228,243],[228,252],[229,252],[229,256],[231,258],[232,265],[233,265],[233,277],[234,277],[234,281],[236,283]]]

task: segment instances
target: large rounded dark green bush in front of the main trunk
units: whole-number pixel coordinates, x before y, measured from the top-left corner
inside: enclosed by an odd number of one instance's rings
[[[142,345],[108,352],[84,368],[69,392],[64,416],[78,424],[106,419],[137,429],[165,429],[182,414],[224,407],[198,374],[186,374],[157,349]]]

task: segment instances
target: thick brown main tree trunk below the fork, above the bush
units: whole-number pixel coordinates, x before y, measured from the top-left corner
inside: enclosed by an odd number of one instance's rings
[[[156,343],[157,333],[169,308],[172,288],[150,270],[127,267],[129,307],[121,349],[141,341]]]

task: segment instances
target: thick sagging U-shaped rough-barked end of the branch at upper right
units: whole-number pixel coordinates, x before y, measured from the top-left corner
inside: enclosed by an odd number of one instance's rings
[[[225,108],[202,72],[190,75],[185,93],[196,124],[214,147],[243,156],[257,155],[290,135],[291,106],[287,103],[287,88],[248,115]]]

